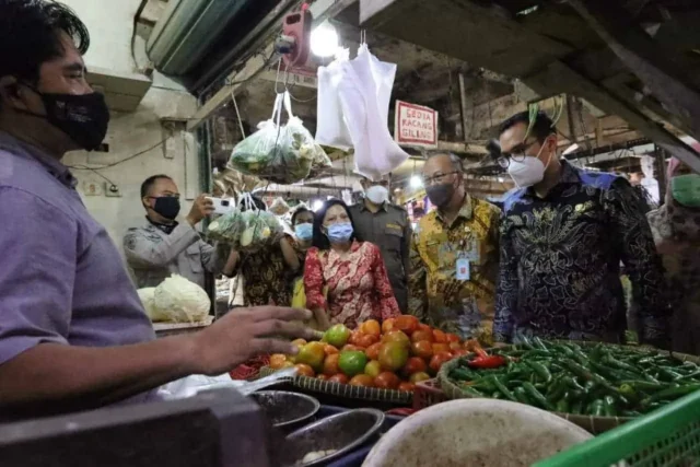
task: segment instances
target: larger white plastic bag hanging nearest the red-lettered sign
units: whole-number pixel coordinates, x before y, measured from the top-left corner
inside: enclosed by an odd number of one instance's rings
[[[388,130],[388,106],[396,66],[385,63],[362,45],[358,58],[342,63],[340,103],[354,147],[355,172],[378,179],[409,155]]]

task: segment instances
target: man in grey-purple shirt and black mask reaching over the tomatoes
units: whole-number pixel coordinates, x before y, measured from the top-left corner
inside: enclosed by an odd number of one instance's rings
[[[144,401],[167,382],[230,371],[311,337],[261,307],[198,334],[155,340],[105,229],[60,160],[94,150],[109,112],[85,81],[84,24],[65,5],[0,1],[0,413],[3,418]]]

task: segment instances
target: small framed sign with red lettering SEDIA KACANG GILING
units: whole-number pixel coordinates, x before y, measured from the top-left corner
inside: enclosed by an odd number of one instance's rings
[[[438,112],[396,101],[394,139],[400,145],[438,148]]]

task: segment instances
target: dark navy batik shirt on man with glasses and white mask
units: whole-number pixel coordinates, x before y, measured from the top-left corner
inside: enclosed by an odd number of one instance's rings
[[[663,268],[637,194],[612,174],[562,162],[545,198],[532,188],[505,197],[494,339],[622,339],[620,262],[634,291],[641,339],[667,338]]]

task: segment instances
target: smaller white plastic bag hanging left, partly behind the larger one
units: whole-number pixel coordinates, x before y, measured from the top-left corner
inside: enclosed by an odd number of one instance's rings
[[[318,67],[318,98],[316,106],[316,142],[347,151],[352,139],[345,120],[338,86],[342,79],[343,63],[349,59],[349,50],[341,49],[327,67]]]

